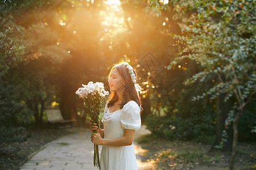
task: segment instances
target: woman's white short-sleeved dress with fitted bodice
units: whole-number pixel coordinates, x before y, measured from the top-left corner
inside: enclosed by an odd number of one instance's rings
[[[140,107],[134,101],[128,101],[118,111],[109,112],[108,103],[105,105],[102,122],[104,138],[113,139],[123,136],[125,129],[141,128]],[[100,158],[101,170],[138,170],[133,144],[130,146],[102,146]]]

